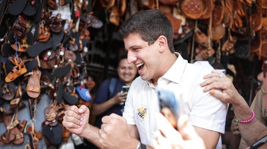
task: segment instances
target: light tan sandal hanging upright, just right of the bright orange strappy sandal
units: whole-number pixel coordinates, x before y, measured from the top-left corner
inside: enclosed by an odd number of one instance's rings
[[[40,95],[41,92],[40,78],[41,78],[41,71],[38,69],[33,70],[32,75],[30,76],[26,87],[27,94],[31,98],[37,98]]]

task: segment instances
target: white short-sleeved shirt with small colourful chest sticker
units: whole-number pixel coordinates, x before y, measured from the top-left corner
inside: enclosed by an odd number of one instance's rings
[[[180,54],[175,54],[177,60],[157,84],[167,85],[175,91],[181,114],[188,115],[190,124],[224,133],[228,105],[208,92],[204,93],[200,86],[204,75],[211,73],[211,69],[190,64]],[[159,112],[159,103],[155,86],[152,81],[136,78],[128,92],[123,117],[128,124],[137,126],[143,144],[152,145],[157,129],[156,112]],[[219,141],[217,147],[220,146]]]

